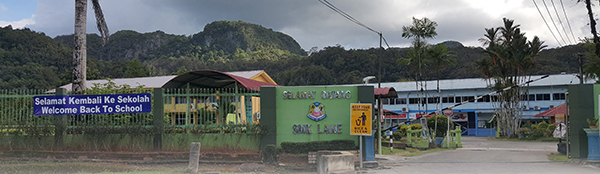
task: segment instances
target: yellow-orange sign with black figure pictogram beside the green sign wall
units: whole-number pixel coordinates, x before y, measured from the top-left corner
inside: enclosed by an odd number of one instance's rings
[[[371,135],[372,105],[350,104],[350,135]]]

